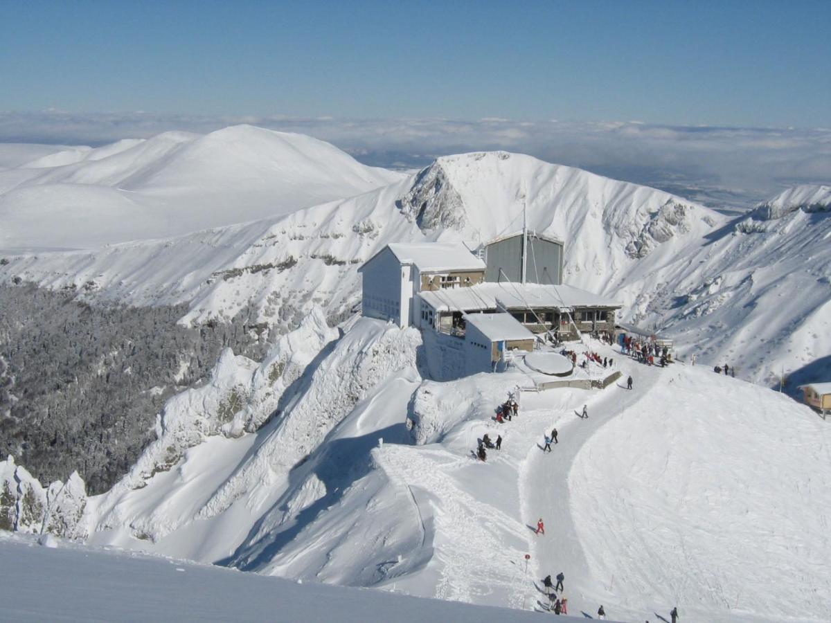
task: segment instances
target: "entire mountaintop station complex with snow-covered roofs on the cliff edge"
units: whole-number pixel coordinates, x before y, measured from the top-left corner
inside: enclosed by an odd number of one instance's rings
[[[619,303],[563,284],[563,243],[514,233],[464,243],[390,243],[358,272],[364,316],[415,326],[465,374],[504,369],[583,332],[612,336]],[[435,339],[434,339],[435,337]],[[561,368],[562,366],[555,366]]]

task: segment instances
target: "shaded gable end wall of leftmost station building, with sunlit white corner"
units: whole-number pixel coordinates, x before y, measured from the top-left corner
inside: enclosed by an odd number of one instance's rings
[[[405,292],[412,291],[409,267],[402,271],[398,258],[385,248],[364,264],[361,277],[361,313],[370,318],[391,320],[398,326],[407,326],[410,322],[411,294],[405,295]],[[405,300],[402,301],[402,298]]]

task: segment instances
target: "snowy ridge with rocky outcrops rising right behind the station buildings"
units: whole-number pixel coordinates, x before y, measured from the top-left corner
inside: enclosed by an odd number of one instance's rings
[[[0,275],[92,300],[187,302],[184,322],[250,305],[258,321],[288,330],[314,304],[331,318],[356,307],[357,267],[384,244],[474,245],[521,228],[527,204],[531,228],[565,241],[566,282],[621,300],[625,319],[668,331],[682,356],[727,358],[744,378],[772,382],[831,347],[822,338],[831,298],[824,188],[774,199],[789,206],[782,218],[760,218],[762,206],[728,223],[655,189],[529,156],[467,154],[271,221],[99,252],[7,256]],[[809,204],[791,209],[797,199]]]

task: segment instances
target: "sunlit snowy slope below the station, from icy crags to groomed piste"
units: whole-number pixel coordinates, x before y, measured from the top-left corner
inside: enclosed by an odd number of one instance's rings
[[[242,422],[278,400],[257,433],[206,429],[195,395],[171,399],[163,419],[180,423],[184,451],[90,498],[91,542],[541,611],[538,578],[563,571],[573,613],[603,604],[624,621],[675,605],[701,621],[831,614],[831,431],[807,407],[702,366],[637,365],[593,342],[635,377],[634,390],[522,393],[519,417],[499,425],[494,405],[522,373],[421,380],[415,331],[366,319],[343,328],[315,361],[304,366],[298,351],[293,373],[278,366],[275,395],[263,380],[231,408]],[[224,362],[202,395],[224,386],[230,396],[252,371]],[[211,400],[198,400],[204,413],[229,404]],[[543,454],[552,426],[558,444]],[[485,432],[503,444],[483,464],[471,451]],[[533,532],[539,517],[544,537]],[[748,564],[789,572],[771,595],[774,579]]]

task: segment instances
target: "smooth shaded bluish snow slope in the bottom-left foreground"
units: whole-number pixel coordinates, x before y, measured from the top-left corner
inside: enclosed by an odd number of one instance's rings
[[[14,561],[0,619],[41,621],[535,621],[534,613],[297,583],[168,557],[0,532]],[[577,621],[574,617],[565,621]]]

